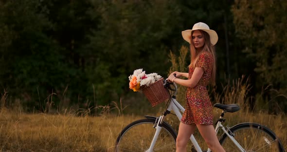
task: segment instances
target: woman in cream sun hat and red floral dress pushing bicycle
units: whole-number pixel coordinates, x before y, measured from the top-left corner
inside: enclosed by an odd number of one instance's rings
[[[225,152],[213,127],[213,106],[206,86],[215,84],[215,48],[218,36],[205,23],[196,23],[192,30],[181,32],[190,43],[191,63],[188,73],[173,72],[169,81],[186,86],[186,109],[179,124],[177,152],[186,152],[187,142],[197,128],[212,152]],[[180,79],[179,77],[188,79]]]

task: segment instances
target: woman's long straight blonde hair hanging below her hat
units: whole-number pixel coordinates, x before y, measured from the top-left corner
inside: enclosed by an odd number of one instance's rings
[[[203,51],[207,51],[209,52],[212,57],[213,57],[213,68],[212,68],[212,72],[211,72],[211,84],[215,85],[215,73],[216,73],[216,62],[215,62],[215,47],[211,44],[210,42],[210,36],[207,32],[199,30],[200,33],[202,34],[203,38],[204,38],[204,46],[203,49],[200,51],[197,51],[196,48],[193,46],[192,44],[192,35],[193,32],[191,32],[191,38],[190,38],[190,54],[191,54],[191,61],[190,61],[190,65],[189,66],[196,66],[197,63],[197,59],[198,57],[201,55],[201,53]]]

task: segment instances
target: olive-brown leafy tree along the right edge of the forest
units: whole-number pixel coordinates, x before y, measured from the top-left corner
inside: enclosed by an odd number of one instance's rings
[[[287,111],[287,1],[235,0],[232,11],[242,51],[256,65],[256,87],[271,85],[265,104],[270,112]]]

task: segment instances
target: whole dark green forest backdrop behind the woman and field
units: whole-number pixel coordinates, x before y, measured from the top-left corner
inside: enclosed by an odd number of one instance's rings
[[[216,92],[249,77],[251,109],[286,113],[286,9],[286,0],[0,0],[5,106],[135,100],[127,77],[139,68],[166,77],[170,51],[187,46],[181,31],[202,21],[219,37]]]

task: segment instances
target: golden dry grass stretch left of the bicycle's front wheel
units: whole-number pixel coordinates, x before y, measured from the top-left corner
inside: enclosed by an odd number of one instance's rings
[[[110,152],[133,116],[0,114],[0,152]]]

